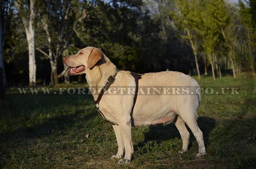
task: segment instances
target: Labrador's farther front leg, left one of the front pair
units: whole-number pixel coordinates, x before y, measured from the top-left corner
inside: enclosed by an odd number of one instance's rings
[[[117,141],[117,146],[118,146],[118,151],[116,155],[113,155],[111,158],[122,158],[123,157],[123,149],[124,149],[124,145],[123,145],[123,136],[121,133],[121,130],[119,128],[119,126],[117,125],[112,125],[115,134],[116,134],[116,141]]]

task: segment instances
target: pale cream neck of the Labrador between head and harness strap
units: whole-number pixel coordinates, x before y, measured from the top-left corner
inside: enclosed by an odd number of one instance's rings
[[[87,71],[86,79],[94,100],[98,98],[99,92],[105,86],[108,78],[114,76],[117,71],[116,66],[104,54],[99,63]]]

